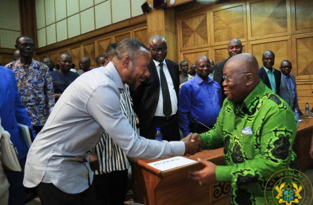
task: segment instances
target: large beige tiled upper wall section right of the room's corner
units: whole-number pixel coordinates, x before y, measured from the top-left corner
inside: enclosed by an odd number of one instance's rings
[[[38,48],[142,14],[144,0],[36,0]]]

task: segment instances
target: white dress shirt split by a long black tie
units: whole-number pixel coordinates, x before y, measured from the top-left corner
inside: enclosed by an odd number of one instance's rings
[[[159,93],[159,101],[158,101],[158,106],[157,106],[157,110],[155,110],[155,114],[154,116],[160,116],[160,117],[165,117],[165,115],[163,114],[163,95],[162,95],[162,88],[161,88],[161,79],[160,79],[160,62],[157,60],[153,60],[155,67],[157,68],[157,72],[159,75],[159,81],[160,81],[160,93]],[[167,81],[167,86],[168,86],[168,90],[169,90],[169,95],[171,98],[171,104],[172,104],[172,114],[174,115],[177,112],[177,104],[178,104],[178,100],[177,100],[177,95],[174,89],[174,84],[173,84],[173,80],[172,77],[168,71],[165,59],[163,60],[163,72],[165,74],[165,78]]]

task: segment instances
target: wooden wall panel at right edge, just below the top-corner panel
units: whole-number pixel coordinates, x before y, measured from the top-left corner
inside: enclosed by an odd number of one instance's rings
[[[297,52],[297,75],[313,75],[313,35],[295,37]]]

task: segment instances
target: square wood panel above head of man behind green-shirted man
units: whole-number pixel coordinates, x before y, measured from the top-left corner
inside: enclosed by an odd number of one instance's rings
[[[231,38],[247,40],[245,3],[211,9],[211,45],[228,43]]]

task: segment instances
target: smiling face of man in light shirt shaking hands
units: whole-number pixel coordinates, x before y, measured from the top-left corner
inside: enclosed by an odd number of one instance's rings
[[[126,56],[128,57],[128,56]],[[126,58],[124,57],[123,60]],[[128,65],[128,80],[127,85],[132,89],[136,89],[145,81],[149,76],[148,66],[150,64],[150,56],[147,51],[141,51],[135,60],[129,59]]]

